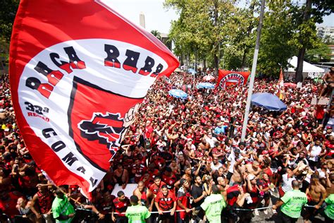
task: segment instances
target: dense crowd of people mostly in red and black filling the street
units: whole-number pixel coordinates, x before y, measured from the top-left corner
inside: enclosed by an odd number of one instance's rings
[[[89,202],[80,188],[56,187],[37,167],[2,76],[0,219],[251,222],[263,212],[294,222],[302,212],[304,222],[316,215],[333,222],[334,116],[331,108],[311,104],[318,85],[285,88],[285,111],[252,107],[242,142],[247,85],[197,89],[202,78],[173,73],[156,81]],[[185,89],[187,100],[168,95],[173,88]],[[254,84],[254,92],[279,90],[277,80]],[[124,193],[129,183],[137,184],[130,198]],[[123,189],[111,195],[116,185]]]

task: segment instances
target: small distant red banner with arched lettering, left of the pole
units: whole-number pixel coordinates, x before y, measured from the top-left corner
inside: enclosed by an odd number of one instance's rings
[[[250,72],[218,71],[216,87],[225,88],[228,85],[246,85]]]

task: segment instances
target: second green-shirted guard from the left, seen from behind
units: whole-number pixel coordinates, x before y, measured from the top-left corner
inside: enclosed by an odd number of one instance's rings
[[[128,207],[125,212],[125,216],[128,217],[129,223],[145,223],[149,216],[151,216],[147,207],[138,205],[138,198],[136,195],[130,197],[130,203],[132,206]]]

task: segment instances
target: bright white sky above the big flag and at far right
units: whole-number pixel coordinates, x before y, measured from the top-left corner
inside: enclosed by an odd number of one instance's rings
[[[163,8],[164,0],[104,0],[109,6],[132,23],[139,25],[140,13],[145,16],[146,29],[168,33],[171,21],[178,19],[178,14],[172,8]],[[319,24],[317,24],[319,25]],[[334,14],[324,17],[323,26],[334,26]]]

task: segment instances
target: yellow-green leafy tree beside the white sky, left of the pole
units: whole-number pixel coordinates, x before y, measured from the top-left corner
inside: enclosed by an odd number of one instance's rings
[[[175,53],[194,54],[195,59],[206,59],[211,54],[218,71],[221,45],[228,42],[227,34],[235,30],[233,1],[166,0],[165,6],[180,13],[170,33],[177,48]]]

